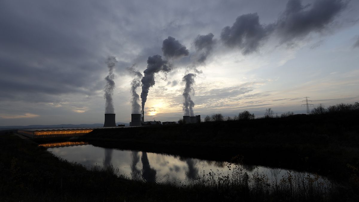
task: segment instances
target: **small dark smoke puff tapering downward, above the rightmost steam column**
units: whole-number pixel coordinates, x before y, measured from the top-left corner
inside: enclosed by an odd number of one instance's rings
[[[204,63],[207,59],[207,56],[212,52],[213,46],[216,43],[216,40],[213,39],[214,35],[209,33],[208,35],[198,35],[195,38],[195,48],[199,53],[197,61],[199,63]]]

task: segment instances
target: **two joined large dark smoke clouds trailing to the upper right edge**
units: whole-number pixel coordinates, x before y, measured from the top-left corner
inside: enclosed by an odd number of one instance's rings
[[[241,49],[243,55],[257,51],[271,33],[276,34],[280,43],[290,44],[311,32],[325,30],[348,2],[315,0],[313,4],[302,5],[301,0],[289,0],[276,22],[264,25],[257,13],[240,15],[232,27],[222,29],[221,40],[228,47]]]

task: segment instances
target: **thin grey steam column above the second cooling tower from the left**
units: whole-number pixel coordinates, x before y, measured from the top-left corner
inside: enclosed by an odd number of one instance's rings
[[[132,114],[140,114],[141,106],[139,104],[140,96],[136,92],[136,88],[140,87],[141,81],[140,78],[142,74],[135,70],[134,65],[132,67],[127,67],[127,71],[134,76],[134,79],[131,81],[131,106],[132,106]]]

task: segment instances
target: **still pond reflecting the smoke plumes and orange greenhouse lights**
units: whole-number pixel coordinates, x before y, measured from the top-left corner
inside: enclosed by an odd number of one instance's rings
[[[247,177],[253,180],[252,183],[259,180],[261,183],[278,184],[293,179],[293,176],[298,178],[298,182],[305,179],[324,186],[329,183],[327,179],[311,173],[265,166],[234,165],[225,161],[209,161],[163,153],[109,149],[85,142],[52,143],[42,146],[48,147],[47,150],[54,155],[82,164],[88,169],[112,165],[118,169],[118,174],[144,182],[188,185],[201,180],[205,180],[206,183],[209,180],[223,180],[236,174],[235,178]]]

